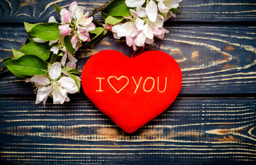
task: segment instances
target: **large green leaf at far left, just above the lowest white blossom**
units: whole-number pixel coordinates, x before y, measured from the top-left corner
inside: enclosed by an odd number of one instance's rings
[[[48,63],[35,55],[24,55],[17,60],[9,60],[3,62],[6,67],[19,77],[23,76],[35,76],[37,74],[48,74]],[[21,77],[22,78],[22,77]]]

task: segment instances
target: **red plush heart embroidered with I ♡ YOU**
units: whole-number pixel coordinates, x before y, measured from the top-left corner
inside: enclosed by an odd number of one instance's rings
[[[83,91],[121,129],[132,133],[173,103],[181,69],[161,51],[128,58],[115,50],[93,55],[83,67]]]

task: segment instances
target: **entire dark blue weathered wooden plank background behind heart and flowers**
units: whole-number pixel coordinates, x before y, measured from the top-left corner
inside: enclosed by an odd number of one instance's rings
[[[1,0],[0,56],[12,56],[28,34],[23,21],[47,22],[54,3]],[[78,1],[88,10],[103,0]],[[32,85],[0,73],[0,164],[253,164],[256,160],[255,0],[183,0],[165,23],[163,40],[146,45],[173,56],[183,86],[164,113],[135,133],[125,133],[80,94],[46,107],[35,104]],[[59,19],[59,17],[57,17]],[[95,15],[100,19],[100,15]],[[81,72],[101,50],[132,54],[124,40],[106,36],[79,50]],[[3,64],[0,63],[0,67]]]

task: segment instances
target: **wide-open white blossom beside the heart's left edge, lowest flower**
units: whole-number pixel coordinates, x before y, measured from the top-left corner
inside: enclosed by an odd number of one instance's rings
[[[49,78],[43,75],[35,75],[30,78],[30,82],[34,82],[37,89],[37,100],[36,104],[43,101],[45,104],[48,96],[52,95],[53,104],[63,104],[68,102],[70,99],[67,94],[75,94],[78,91],[78,87],[75,80],[68,76],[61,77],[61,63],[53,63],[49,69]],[[29,80],[27,80],[28,82]]]

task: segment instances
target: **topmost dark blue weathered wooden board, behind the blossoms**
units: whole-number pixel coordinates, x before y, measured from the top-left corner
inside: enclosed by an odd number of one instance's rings
[[[54,4],[67,8],[72,1],[39,1],[39,0],[1,0],[0,1],[0,22],[21,23],[47,22],[50,16],[59,19],[54,10]],[[99,5],[106,3],[106,0],[77,0],[79,5],[92,11]],[[255,1],[254,0],[193,0],[181,1],[176,19],[171,21],[255,21]],[[101,19],[100,14],[95,15],[95,19]]]

